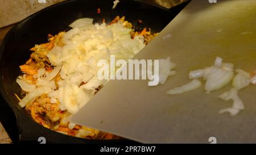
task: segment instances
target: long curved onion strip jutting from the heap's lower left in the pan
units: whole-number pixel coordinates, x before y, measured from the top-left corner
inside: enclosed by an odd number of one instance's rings
[[[20,107],[26,106],[27,103],[33,102],[36,97],[39,97],[42,94],[47,94],[51,91],[48,87],[38,87],[35,90],[31,91],[19,102]]]

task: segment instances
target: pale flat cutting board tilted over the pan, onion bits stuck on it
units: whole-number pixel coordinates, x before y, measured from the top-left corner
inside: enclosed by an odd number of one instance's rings
[[[142,143],[209,143],[210,137],[217,143],[255,143],[256,86],[240,91],[245,110],[237,116],[218,114],[232,104],[217,98],[230,86],[210,94],[203,86],[181,95],[166,94],[188,83],[190,70],[212,65],[216,56],[236,68],[256,70],[255,43],[255,0],[194,0],[134,57],[170,56],[177,74],[151,87],[146,80],[111,80],[72,122]]]

